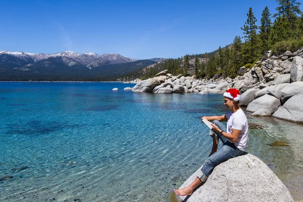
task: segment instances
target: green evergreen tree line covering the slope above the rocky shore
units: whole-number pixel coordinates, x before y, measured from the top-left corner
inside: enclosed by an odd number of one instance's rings
[[[262,12],[260,26],[250,7],[247,20],[241,27],[243,37],[235,36],[233,42],[211,53],[185,55],[177,59],[167,59],[148,69],[142,69],[127,76],[130,79],[155,76],[167,69],[173,75],[195,75],[196,78],[234,78],[240,67],[251,68],[271,50],[272,55],[285,51],[294,52],[303,47],[303,13],[296,0],[276,0],[278,6],[272,15],[268,9]],[[272,22],[272,19],[274,21]],[[200,60],[204,58],[204,60]]]

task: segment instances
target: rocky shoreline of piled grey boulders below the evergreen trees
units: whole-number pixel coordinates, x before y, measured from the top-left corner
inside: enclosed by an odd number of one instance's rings
[[[241,67],[239,76],[234,79],[199,80],[193,76],[173,76],[164,70],[153,78],[138,82],[131,90],[205,94],[237,88],[241,92],[240,106],[247,106],[247,111],[254,112],[252,116],[272,116],[302,124],[303,110],[299,100],[303,99],[303,47],[294,53],[287,51],[280,56],[270,55],[268,51],[251,68]]]

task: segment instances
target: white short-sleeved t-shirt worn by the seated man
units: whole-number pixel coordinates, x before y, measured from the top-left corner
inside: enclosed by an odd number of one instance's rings
[[[227,117],[227,133],[231,134],[232,129],[240,130],[240,136],[234,144],[238,149],[241,151],[244,151],[247,147],[247,141],[248,141],[248,123],[247,118],[243,112],[243,110],[240,108],[235,113],[232,113],[232,111],[229,111],[225,114]]]

